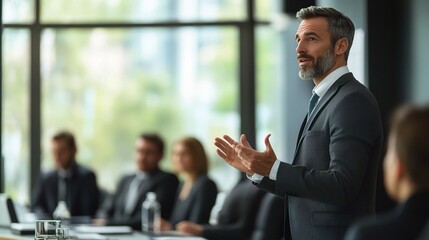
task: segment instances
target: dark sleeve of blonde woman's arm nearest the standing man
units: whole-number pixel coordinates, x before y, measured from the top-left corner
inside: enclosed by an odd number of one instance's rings
[[[211,210],[216,202],[217,187],[216,184],[210,180],[206,181],[198,189],[196,201],[194,202],[189,221],[205,224],[210,220]]]

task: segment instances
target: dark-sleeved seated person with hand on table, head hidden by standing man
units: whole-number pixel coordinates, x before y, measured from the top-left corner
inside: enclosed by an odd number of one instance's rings
[[[176,230],[210,240],[250,239],[265,194],[243,177],[225,198],[216,225],[183,221],[176,225]]]

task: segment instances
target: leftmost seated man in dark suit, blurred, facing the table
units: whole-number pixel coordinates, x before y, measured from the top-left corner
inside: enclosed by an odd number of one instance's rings
[[[39,217],[53,217],[60,201],[70,215],[93,217],[99,204],[96,176],[76,162],[76,142],[73,134],[59,132],[52,138],[52,157],[56,169],[43,175],[36,185],[31,210]]]

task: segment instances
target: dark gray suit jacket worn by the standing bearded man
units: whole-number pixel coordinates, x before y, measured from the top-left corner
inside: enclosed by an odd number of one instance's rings
[[[292,164],[258,184],[285,197],[292,239],[342,239],[354,220],[374,214],[382,141],[375,98],[343,75],[304,120]]]

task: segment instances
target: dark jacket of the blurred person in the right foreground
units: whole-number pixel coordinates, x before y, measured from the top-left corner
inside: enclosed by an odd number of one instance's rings
[[[358,221],[347,231],[345,239],[417,239],[428,220],[429,193],[416,194],[388,213]]]

